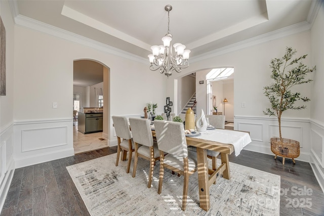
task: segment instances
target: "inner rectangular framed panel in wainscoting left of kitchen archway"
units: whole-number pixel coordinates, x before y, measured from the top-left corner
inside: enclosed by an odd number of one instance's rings
[[[67,145],[67,126],[21,131],[21,151],[34,151]]]

